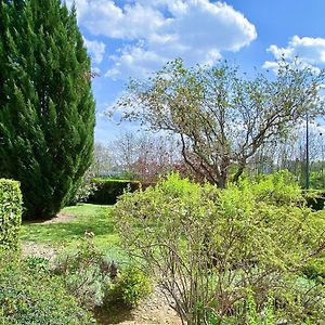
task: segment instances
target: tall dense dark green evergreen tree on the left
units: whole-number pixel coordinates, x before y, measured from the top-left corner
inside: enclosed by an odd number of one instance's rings
[[[21,181],[26,219],[68,204],[91,164],[90,79],[74,8],[0,0],[0,177]]]

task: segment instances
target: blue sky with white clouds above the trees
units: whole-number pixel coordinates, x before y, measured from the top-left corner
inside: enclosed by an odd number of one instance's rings
[[[67,1],[68,2],[68,1]],[[95,141],[134,129],[105,112],[130,77],[146,78],[167,61],[187,66],[231,60],[242,70],[274,67],[282,54],[325,68],[325,0],[75,0],[92,69]],[[67,3],[69,4],[69,2]]]

